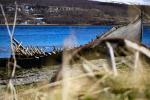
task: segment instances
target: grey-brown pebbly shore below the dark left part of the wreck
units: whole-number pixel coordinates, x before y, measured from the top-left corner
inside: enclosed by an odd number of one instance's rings
[[[50,81],[51,78],[56,74],[58,67],[60,66],[46,66],[43,68],[31,68],[31,69],[19,69],[16,70],[16,75],[11,78],[12,84],[23,85],[31,84],[42,81]],[[6,85],[9,82],[9,78],[0,78],[0,84]]]

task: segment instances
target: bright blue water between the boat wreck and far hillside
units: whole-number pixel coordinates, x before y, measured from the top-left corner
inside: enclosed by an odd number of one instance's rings
[[[82,45],[109,29],[111,26],[17,26],[14,36],[24,46],[62,46],[68,37],[74,37],[71,41]],[[0,26],[0,57],[10,56],[9,42],[6,27]],[[150,27],[144,27],[142,42],[150,46]]]

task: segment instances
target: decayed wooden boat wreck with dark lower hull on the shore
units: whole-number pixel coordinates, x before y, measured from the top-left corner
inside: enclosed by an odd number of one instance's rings
[[[122,27],[113,27],[111,30],[106,32],[105,34],[98,36],[93,41],[89,42],[80,47],[75,47],[69,50],[70,53],[74,51],[86,58],[95,59],[104,57],[107,55],[105,51],[107,51],[104,45],[102,45],[102,41],[104,40],[113,40],[119,42],[120,39],[127,39],[136,43],[141,42],[142,38],[142,22],[141,19],[136,19],[133,23],[128,24],[127,26]],[[38,47],[24,47],[18,42],[16,39],[13,39],[13,44],[15,48],[16,60],[17,65],[21,67],[41,67],[41,66],[50,66],[61,64],[63,59],[64,51],[63,49],[56,49],[54,48],[51,52],[45,52],[44,50]],[[113,44],[113,47],[118,48],[116,45],[117,42]],[[122,46],[122,48],[124,45]],[[100,49],[99,49],[100,48]],[[100,56],[96,57],[97,53],[94,52],[102,52]],[[106,54],[105,54],[106,53]],[[74,53],[76,54],[76,53]],[[95,57],[91,57],[90,55],[95,55]],[[103,55],[104,54],[104,55]],[[122,54],[124,55],[124,54]],[[76,58],[76,57],[75,57]],[[78,58],[77,58],[78,59]],[[8,62],[12,62],[10,59],[3,59],[1,60],[0,66],[7,66]],[[12,62],[13,63],[13,62]]]

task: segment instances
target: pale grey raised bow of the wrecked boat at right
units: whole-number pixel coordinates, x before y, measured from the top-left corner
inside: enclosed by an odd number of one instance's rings
[[[127,26],[113,27],[110,31],[103,34],[99,39],[120,38],[140,43],[142,39],[142,22],[137,19]]]

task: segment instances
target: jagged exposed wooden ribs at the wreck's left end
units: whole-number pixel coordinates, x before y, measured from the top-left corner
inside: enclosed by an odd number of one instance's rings
[[[57,52],[63,51],[62,48],[56,48],[55,46],[49,47],[52,48],[52,51],[47,52],[44,48],[38,46],[27,46],[24,47],[19,41],[15,38],[13,39],[13,46],[15,50],[15,55],[18,58],[38,58],[44,57],[51,54],[56,54]]]

